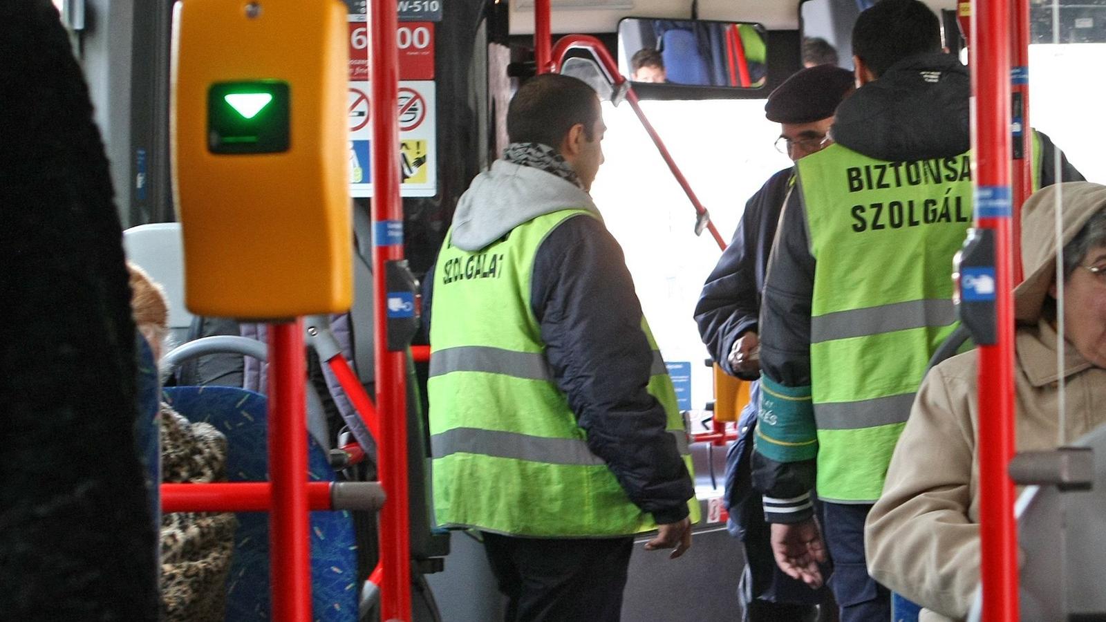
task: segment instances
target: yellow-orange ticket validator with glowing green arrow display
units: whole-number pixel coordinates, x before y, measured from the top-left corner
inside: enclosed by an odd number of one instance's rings
[[[192,313],[349,309],[347,37],[338,0],[177,3],[173,177]]]

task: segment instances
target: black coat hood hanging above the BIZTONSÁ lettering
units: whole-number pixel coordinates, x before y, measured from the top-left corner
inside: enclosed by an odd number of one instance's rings
[[[968,151],[971,79],[952,54],[919,54],[891,65],[837,108],[832,134],[888,162],[951,157]]]

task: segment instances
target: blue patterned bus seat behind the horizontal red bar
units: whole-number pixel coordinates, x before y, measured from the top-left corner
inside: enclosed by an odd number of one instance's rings
[[[227,435],[227,475],[231,481],[268,477],[267,398],[230,386],[176,386],[166,402],[192,422],[206,422]],[[334,481],[323,448],[309,437],[307,470],[312,481]],[[234,554],[227,584],[227,622],[269,619],[269,517],[238,515]],[[355,622],[361,580],[356,572],[353,518],[348,511],[311,512],[313,620]]]

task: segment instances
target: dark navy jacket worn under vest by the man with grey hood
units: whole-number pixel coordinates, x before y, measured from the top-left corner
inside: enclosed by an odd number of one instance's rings
[[[428,331],[432,284],[434,268],[422,289]],[[534,258],[530,304],[588,448],[658,523],[684,519],[695,489],[666,432],[665,408],[646,390],[653,350],[640,329],[641,304],[602,220],[573,216],[549,234]]]

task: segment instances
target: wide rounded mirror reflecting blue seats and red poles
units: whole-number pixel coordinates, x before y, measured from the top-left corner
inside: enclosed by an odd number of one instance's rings
[[[618,70],[633,82],[760,89],[768,43],[758,23],[626,18]]]

